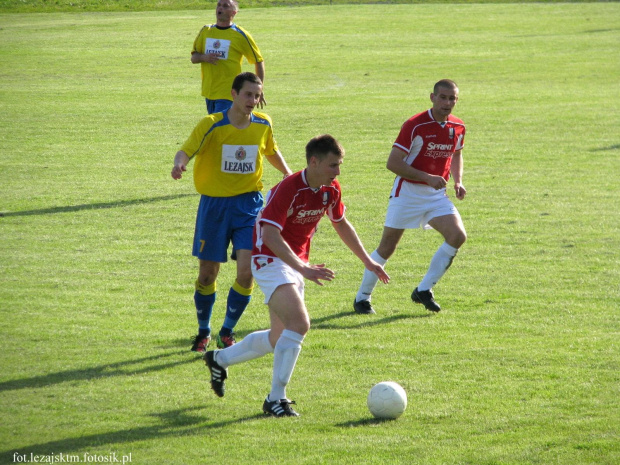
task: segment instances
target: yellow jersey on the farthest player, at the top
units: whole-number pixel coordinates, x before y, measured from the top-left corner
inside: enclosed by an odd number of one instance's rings
[[[236,24],[227,28],[215,24],[204,26],[194,40],[194,52],[216,53],[220,56],[216,65],[200,64],[202,95],[210,100],[232,100],[232,82],[241,73],[243,57],[252,65],[263,61],[252,36]]]

